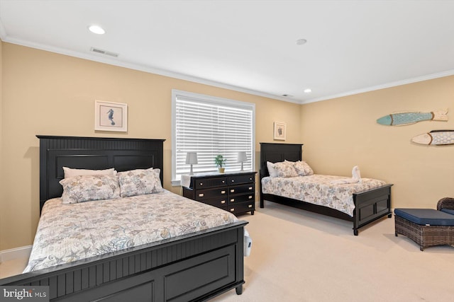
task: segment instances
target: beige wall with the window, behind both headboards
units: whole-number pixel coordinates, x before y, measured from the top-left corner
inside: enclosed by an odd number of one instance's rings
[[[166,139],[164,187],[171,187],[172,89],[256,104],[256,153],[273,121],[300,138],[300,105],[172,79],[3,42],[0,250],[31,245],[39,217],[36,134]],[[95,132],[94,100],[128,104],[128,133]],[[165,125],[165,127],[162,127]],[[258,165],[256,166],[258,169]]]

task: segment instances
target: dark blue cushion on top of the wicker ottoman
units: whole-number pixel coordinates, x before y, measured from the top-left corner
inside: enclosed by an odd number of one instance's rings
[[[436,209],[394,209],[394,214],[421,226],[454,226],[454,215]]]

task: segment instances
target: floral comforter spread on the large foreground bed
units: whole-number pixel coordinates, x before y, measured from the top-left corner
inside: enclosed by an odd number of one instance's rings
[[[167,190],[155,194],[43,207],[24,272],[102,255],[238,221],[236,216]]]

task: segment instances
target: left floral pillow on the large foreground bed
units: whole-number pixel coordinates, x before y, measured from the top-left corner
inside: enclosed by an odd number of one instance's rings
[[[120,197],[116,175],[79,175],[62,179],[60,184],[63,187],[63,204]]]

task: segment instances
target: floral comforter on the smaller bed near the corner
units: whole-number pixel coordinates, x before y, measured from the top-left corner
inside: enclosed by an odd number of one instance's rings
[[[353,193],[381,187],[385,185],[385,182],[372,178],[361,178],[361,182],[336,183],[350,179],[320,174],[294,178],[266,177],[262,178],[262,192],[330,207],[353,216],[355,209]]]

